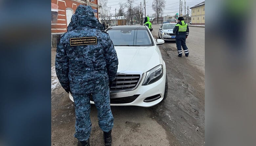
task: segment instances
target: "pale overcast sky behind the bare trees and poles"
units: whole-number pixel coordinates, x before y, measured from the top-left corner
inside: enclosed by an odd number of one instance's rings
[[[140,6],[140,2],[143,5],[143,1],[144,0],[134,0],[134,5],[133,6]],[[185,3],[184,0],[182,0],[182,14],[184,14],[184,7],[185,7]],[[187,13],[187,6],[188,9],[190,7],[193,7],[201,2],[203,2],[204,0],[186,0],[186,13]],[[111,13],[113,13],[115,15],[115,9],[117,9],[117,11],[119,10],[119,2],[121,3],[126,3],[127,0],[108,0],[108,6],[111,7]],[[152,15],[154,14],[154,10],[152,9],[152,2],[153,0],[146,0],[146,15]],[[180,0],[166,0],[166,4],[165,4],[165,9],[163,10],[163,16],[166,15],[175,15],[176,13],[179,13],[180,11]],[[125,10],[126,11],[126,10]],[[189,9],[190,14],[191,14],[191,10]]]

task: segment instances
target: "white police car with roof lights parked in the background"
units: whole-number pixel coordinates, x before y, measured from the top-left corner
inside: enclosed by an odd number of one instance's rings
[[[160,26],[158,31],[158,38],[163,40],[175,40],[176,34],[173,29],[176,23],[164,23]]]

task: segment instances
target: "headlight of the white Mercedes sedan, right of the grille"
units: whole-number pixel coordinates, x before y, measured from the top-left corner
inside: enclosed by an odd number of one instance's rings
[[[158,65],[147,72],[146,78],[142,83],[142,86],[152,84],[158,81],[162,76],[163,76],[163,66]]]

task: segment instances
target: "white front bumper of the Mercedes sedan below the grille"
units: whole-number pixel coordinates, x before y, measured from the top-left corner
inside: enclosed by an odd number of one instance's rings
[[[139,83],[139,86],[132,91],[127,92],[119,92],[119,93],[110,93],[110,98],[121,98],[121,97],[128,97],[133,95],[139,95],[133,102],[130,103],[121,103],[121,104],[110,104],[111,106],[140,106],[140,107],[151,107],[158,103],[160,103],[163,100],[164,91],[165,91],[165,77],[166,77],[166,70],[164,69],[163,76],[156,81],[155,83],[152,83],[150,85],[141,86],[145,75],[143,75],[141,82]],[[160,94],[160,98],[151,101],[151,102],[144,102],[144,100],[147,97],[151,97],[154,95]],[[73,96],[69,94],[70,99],[74,102]],[[92,104],[94,104],[93,101],[90,101]]]

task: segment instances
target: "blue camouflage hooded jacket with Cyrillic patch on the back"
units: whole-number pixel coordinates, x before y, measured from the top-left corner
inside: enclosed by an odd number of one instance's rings
[[[117,74],[117,53],[90,6],[79,5],[57,45],[55,70],[72,93],[92,93],[109,86]]]

